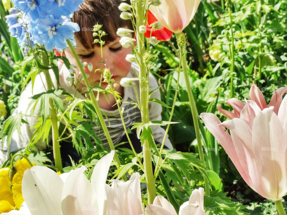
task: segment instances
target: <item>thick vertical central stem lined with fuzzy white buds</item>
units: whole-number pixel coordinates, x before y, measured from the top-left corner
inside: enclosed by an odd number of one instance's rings
[[[137,29],[137,45],[138,45],[138,61],[139,61],[139,74],[140,74],[140,95],[141,95],[141,120],[142,123],[149,122],[149,83],[148,73],[143,62],[143,54],[145,52],[144,46],[144,34],[138,31],[139,27],[144,23],[144,5],[142,0],[138,0],[136,3],[136,29]],[[155,178],[152,172],[152,154],[149,149],[148,141],[144,141],[143,144],[143,155],[144,155],[144,175],[146,178],[147,187],[147,199],[148,204],[152,204],[155,199]]]

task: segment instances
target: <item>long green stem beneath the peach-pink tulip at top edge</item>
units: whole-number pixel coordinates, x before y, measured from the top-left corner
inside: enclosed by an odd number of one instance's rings
[[[184,73],[184,79],[187,87],[187,93],[188,93],[188,98],[190,101],[190,108],[191,108],[191,113],[192,113],[192,118],[193,118],[193,123],[194,123],[194,128],[195,128],[195,133],[196,133],[196,140],[197,140],[197,146],[198,146],[198,152],[199,152],[199,158],[203,162],[203,166],[205,167],[205,160],[204,160],[204,153],[202,149],[202,143],[201,143],[201,136],[200,136],[200,129],[199,129],[199,123],[198,123],[198,112],[196,108],[196,103],[192,94],[192,89],[190,86],[190,81],[189,81],[189,76],[188,76],[188,71],[187,71],[187,61],[186,61],[186,55],[182,56],[182,70]],[[204,188],[205,188],[205,193],[207,196],[210,195],[209,191],[209,182],[206,176],[203,176],[204,178]]]

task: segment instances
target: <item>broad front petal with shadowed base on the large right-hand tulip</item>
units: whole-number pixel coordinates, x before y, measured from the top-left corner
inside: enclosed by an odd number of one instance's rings
[[[278,200],[287,191],[287,135],[273,109],[264,109],[254,119],[252,142],[262,179],[270,193],[264,197]]]

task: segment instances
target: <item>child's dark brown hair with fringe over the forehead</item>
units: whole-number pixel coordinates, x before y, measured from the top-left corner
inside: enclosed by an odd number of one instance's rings
[[[129,2],[129,1],[128,1]],[[119,0],[84,0],[80,10],[74,13],[73,20],[80,26],[80,31],[76,33],[78,39],[87,49],[93,48],[93,26],[98,23],[103,25],[101,28],[107,33],[103,40],[106,44],[117,38],[117,29],[127,27],[132,29],[130,20],[120,18],[121,11],[118,9],[121,1]]]

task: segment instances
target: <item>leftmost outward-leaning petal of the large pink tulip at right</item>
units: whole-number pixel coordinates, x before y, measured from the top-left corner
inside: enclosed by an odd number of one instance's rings
[[[233,141],[230,135],[228,134],[228,132],[224,127],[219,126],[219,124],[221,123],[219,118],[212,113],[201,113],[200,118],[204,121],[206,128],[213,134],[216,140],[222,145],[223,149],[230,157],[230,160],[233,162],[238,172],[243,176],[245,176],[247,167],[241,165],[241,162],[239,161],[239,158],[236,154],[235,147],[233,145]],[[245,178],[247,180],[247,176]],[[250,179],[248,179],[248,181],[250,181]]]

